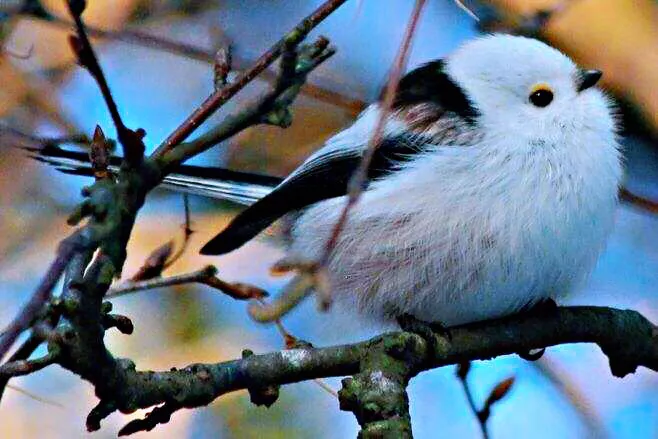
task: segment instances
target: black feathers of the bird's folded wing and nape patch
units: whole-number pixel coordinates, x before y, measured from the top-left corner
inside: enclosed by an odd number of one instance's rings
[[[394,111],[404,111],[428,104],[425,121],[430,123],[450,117],[465,126],[475,123],[477,109],[461,87],[446,72],[441,60],[427,63],[405,75],[398,86]],[[416,117],[416,119],[418,119]],[[358,123],[358,122],[357,122]],[[349,128],[348,130],[351,130]],[[369,180],[397,169],[401,163],[422,152],[440,139],[427,138],[413,128],[385,138],[377,148],[369,172]],[[350,176],[358,167],[367,142],[345,147],[325,147],[318,151],[274,191],[239,214],[228,227],[209,241],[203,254],[228,253],[255,237],[288,212],[347,193]]]

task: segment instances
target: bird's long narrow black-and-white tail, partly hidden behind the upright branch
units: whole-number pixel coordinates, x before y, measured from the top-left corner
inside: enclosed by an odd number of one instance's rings
[[[89,156],[85,152],[48,146],[25,148],[32,158],[51,165],[61,172],[93,176]],[[110,170],[117,171],[120,159],[113,157]],[[249,206],[270,193],[281,179],[262,174],[231,171],[225,168],[181,165],[169,174],[162,186],[210,198],[229,200]]]

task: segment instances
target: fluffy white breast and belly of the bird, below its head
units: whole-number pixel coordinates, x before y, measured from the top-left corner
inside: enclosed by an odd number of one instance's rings
[[[437,147],[351,211],[330,263],[335,298],[456,325],[563,295],[603,247],[620,175],[611,130]],[[291,251],[319,254],[344,202],[306,211]]]

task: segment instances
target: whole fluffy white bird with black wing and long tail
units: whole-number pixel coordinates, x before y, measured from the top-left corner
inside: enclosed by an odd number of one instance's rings
[[[374,127],[365,190],[327,261],[339,309],[452,327],[558,300],[591,272],[614,223],[622,158],[602,72],[536,39],[492,34],[404,75],[287,178],[181,166],[163,184],[247,205],[201,253],[277,220],[286,253],[325,250]],[[35,154],[89,174],[80,153]]]

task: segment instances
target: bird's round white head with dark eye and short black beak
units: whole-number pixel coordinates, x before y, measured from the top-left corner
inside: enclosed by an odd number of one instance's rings
[[[560,142],[576,132],[614,132],[598,70],[579,68],[538,40],[492,35],[466,43],[446,73],[477,112],[484,131],[504,139]]]

